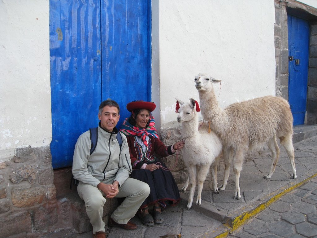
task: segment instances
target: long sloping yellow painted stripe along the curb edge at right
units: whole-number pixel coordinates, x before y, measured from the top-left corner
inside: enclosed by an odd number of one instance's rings
[[[288,192],[292,191],[295,188],[298,188],[299,186],[303,185],[305,182],[307,182],[308,180],[314,178],[315,176],[317,176],[317,174],[314,174],[312,176],[310,176],[309,178],[303,180],[302,182],[299,183],[294,183],[291,187],[284,189],[283,191],[281,191],[281,193],[272,196],[267,202],[264,202],[262,204],[260,204],[259,206],[257,206],[255,209],[253,209],[252,211],[248,211],[243,213],[242,215],[239,215],[237,217],[235,217],[232,220],[227,220],[226,224],[231,227],[229,230],[229,233],[232,233],[234,231],[236,231],[238,228],[240,228],[243,224],[245,224],[249,219],[251,219],[252,217],[254,217],[255,215],[257,215],[258,213],[262,212],[265,208],[267,208],[269,205],[271,205],[273,202],[275,202],[276,200],[278,200],[279,198],[281,198],[281,196],[287,194]],[[271,193],[272,195],[272,193]],[[267,195],[268,197],[270,196],[270,194]],[[231,223],[231,224],[230,224]],[[222,238],[222,237],[226,237],[226,236],[217,236],[217,238]]]

